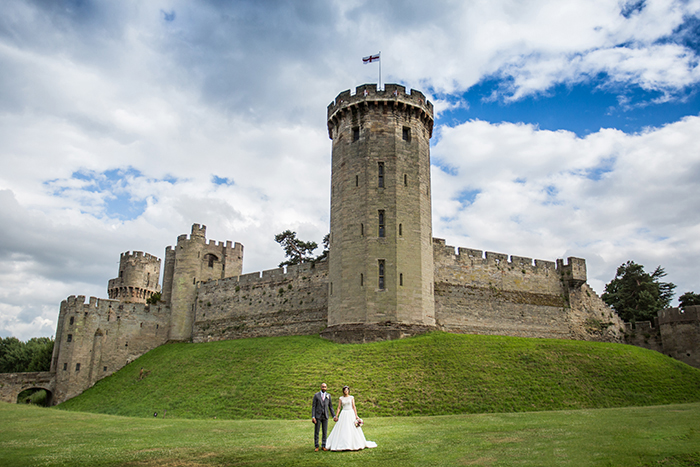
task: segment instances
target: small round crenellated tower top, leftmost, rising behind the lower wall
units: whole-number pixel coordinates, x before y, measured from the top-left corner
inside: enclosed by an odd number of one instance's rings
[[[107,295],[125,303],[146,303],[160,292],[160,259],[148,253],[129,251],[119,257],[119,277],[110,279]]]

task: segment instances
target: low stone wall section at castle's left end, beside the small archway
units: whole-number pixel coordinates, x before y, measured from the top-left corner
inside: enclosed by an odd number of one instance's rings
[[[100,379],[168,340],[170,309],[70,296],[61,303],[51,371],[53,404],[77,396]]]

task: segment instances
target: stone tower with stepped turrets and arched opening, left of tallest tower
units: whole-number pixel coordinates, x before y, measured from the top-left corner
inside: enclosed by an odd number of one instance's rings
[[[243,269],[243,245],[230,241],[207,242],[207,227],[193,224],[192,234],[177,237],[173,249],[165,249],[163,301],[170,305],[170,340],[192,339],[197,282],[239,276]]]

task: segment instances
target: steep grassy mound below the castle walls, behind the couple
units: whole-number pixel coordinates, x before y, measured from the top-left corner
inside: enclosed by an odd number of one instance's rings
[[[139,370],[148,376],[139,380]],[[58,407],[147,417],[299,419],[328,383],[361,417],[700,401],[700,370],[620,344],[430,333],[373,344],[319,337],[168,344]]]

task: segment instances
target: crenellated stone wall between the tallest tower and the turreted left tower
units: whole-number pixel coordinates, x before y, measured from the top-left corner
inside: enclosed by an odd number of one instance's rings
[[[323,261],[200,283],[192,341],[318,334],[328,322]]]

